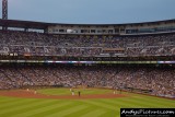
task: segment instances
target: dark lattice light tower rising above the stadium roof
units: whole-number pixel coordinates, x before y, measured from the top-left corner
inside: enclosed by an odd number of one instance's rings
[[[8,0],[2,0],[2,19],[8,20]]]

